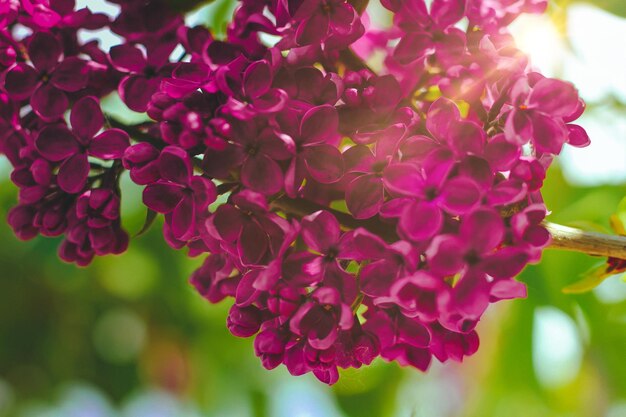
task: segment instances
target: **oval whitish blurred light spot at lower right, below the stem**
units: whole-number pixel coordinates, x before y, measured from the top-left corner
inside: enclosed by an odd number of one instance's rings
[[[571,382],[580,370],[582,345],[575,322],[554,307],[538,308],[533,323],[533,367],[548,388]]]

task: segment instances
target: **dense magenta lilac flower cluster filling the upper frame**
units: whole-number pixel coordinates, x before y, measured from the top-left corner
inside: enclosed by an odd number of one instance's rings
[[[112,2],[0,5],[18,237],[63,235],[79,265],[123,252],[128,171],[168,244],[206,256],[191,282],[234,300],[230,331],[328,384],[379,356],[461,361],[489,304],[525,296],[546,170],[589,143],[576,89],[506,29],[546,0],[381,0],[387,28],[364,1],[241,0],[222,37],[160,0]],[[123,43],[78,35],[103,28]],[[151,121],[104,115],[111,93]]]

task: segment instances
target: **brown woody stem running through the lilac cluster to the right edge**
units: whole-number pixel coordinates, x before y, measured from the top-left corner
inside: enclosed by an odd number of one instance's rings
[[[280,210],[297,217],[303,217],[318,210],[326,210],[335,215],[339,223],[348,230],[363,227],[380,236],[388,242],[398,240],[394,225],[385,223],[379,218],[359,220],[350,214],[331,209],[303,199],[281,197],[272,202],[274,210]],[[544,226],[552,236],[552,243],[548,248],[561,249],[586,253],[587,255],[602,256],[626,260],[626,237],[607,235],[596,232],[586,232],[560,224],[544,222]]]

